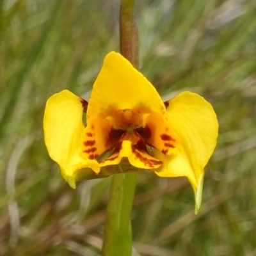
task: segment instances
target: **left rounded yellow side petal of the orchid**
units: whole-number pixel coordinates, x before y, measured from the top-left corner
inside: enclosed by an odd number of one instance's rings
[[[82,152],[83,100],[68,90],[52,95],[45,107],[44,139],[51,158],[61,167],[61,172],[74,188],[74,172],[91,168],[99,173],[99,164]],[[70,177],[70,178],[68,178]],[[71,185],[70,185],[71,186]]]

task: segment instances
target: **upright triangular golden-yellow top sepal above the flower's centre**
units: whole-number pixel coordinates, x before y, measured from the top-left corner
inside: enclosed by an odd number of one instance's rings
[[[134,109],[142,115],[159,113],[166,118],[166,108],[154,86],[121,54],[109,52],[93,84],[87,120],[113,116],[122,109]]]

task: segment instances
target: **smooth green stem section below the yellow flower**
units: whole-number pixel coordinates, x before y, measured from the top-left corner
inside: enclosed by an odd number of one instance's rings
[[[131,256],[131,211],[136,173],[115,174],[109,189],[108,215],[104,230],[103,256]]]

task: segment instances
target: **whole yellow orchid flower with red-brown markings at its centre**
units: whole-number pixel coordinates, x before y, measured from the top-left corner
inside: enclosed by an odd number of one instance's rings
[[[164,103],[129,61],[109,52],[89,103],[67,90],[47,100],[44,134],[49,155],[72,188],[77,180],[110,175],[104,166],[130,164],[161,177],[188,177],[197,211],[218,121],[196,93]]]

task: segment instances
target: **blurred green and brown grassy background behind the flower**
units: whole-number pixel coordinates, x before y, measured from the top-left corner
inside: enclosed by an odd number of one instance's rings
[[[0,255],[100,255],[109,178],[71,189],[44,145],[46,100],[84,98],[118,51],[119,1],[0,1]],[[141,72],[200,93],[220,122],[202,207],[184,178],[140,174],[134,255],[256,255],[256,2],[137,1]],[[122,256],[122,255],[120,255]]]

